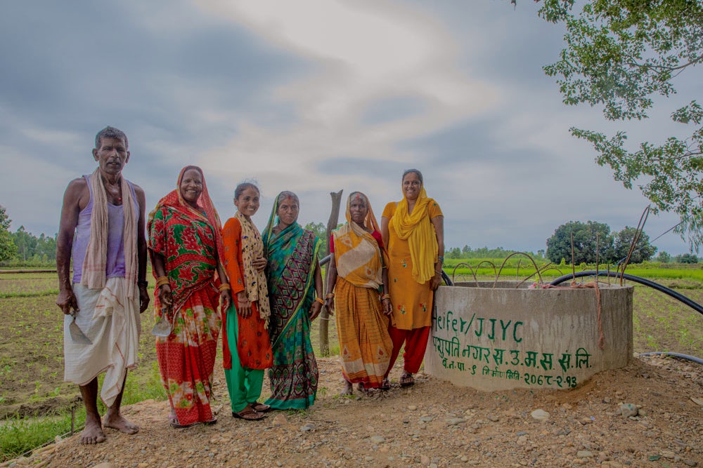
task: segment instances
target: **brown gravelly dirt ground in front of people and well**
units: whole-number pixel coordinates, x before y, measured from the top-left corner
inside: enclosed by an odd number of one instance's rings
[[[640,357],[570,391],[482,393],[420,374],[414,387],[351,399],[337,396],[337,359],[318,363],[321,392],[305,413],[245,422],[231,417],[225,398],[214,426],[172,429],[167,403],[143,401],[124,411],[141,424],[134,436],[107,429],[108,441],[89,447],[73,436],[6,465],[703,466],[703,366],[695,363]],[[621,403],[639,406],[639,415],[624,417]],[[548,420],[534,419],[538,409]]]

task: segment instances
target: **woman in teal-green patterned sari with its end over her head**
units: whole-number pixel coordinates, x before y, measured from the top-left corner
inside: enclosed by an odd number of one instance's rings
[[[310,323],[324,304],[317,259],[321,241],[297,223],[298,210],[297,195],[280,192],[262,236],[269,262],[266,281],[273,350],[273,367],[269,369],[271,398],[266,405],[279,410],[308,408],[317,393],[318,369],[310,342]]]

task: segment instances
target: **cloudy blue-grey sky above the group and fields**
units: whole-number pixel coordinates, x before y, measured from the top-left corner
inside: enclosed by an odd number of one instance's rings
[[[366,192],[377,215],[425,175],[446,245],[545,248],[569,220],[635,226],[646,199],[612,180],[570,126],[659,141],[664,103],[631,128],[566,107],[541,67],[561,27],[500,0],[11,1],[0,16],[0,204],[55,234],[67,182],[95,168],[95,133],[127,133],[124,174],[152,208],[196,164],[221,218],[254,178],[272,199],[327,222],[330,192]],[[686,91],[699,85],[681,81]],[[687,88],[688,87],[688,88]],[[682,93],[685,94],[685,93]],[[342,215],[343,219],[343,215]],[[650,238],[678,222],[650,216]],[[685,253],[670,233],[659,250]]]

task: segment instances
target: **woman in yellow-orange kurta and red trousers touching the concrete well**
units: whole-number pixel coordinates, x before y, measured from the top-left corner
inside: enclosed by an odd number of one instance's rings
[[[403,173],[403,199],[388,203],[381,218],[383,243],[388,248],[388,283],[393,313],[389,333],[393,354],[386,375],[405,345],[401,386],[413,385],[420,370],[432,324],[432,299],[441,282],[444,262],[444,215],[427,197],[423,174]]]

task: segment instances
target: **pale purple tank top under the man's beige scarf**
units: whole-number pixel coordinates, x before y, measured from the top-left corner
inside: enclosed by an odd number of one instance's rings
[[[78,225],[73,236],[73,248],[71,258],[73,260],[73,282],[80,283],[83,276],[83,262],[86,258],[86,250],[90,241],[90,218],[93,213],[93,189],[90,185],[90,176],[83,176],[88,183],[90,190],[90,201],[88,205],[78,214]],[[136,202],[134,185],[129,180],[129,191],[134,200],[134,213],[139,216],[139,205]],[[138,218],[137,218],[138,219]],[[124,242],[122,234],[124,231],[124,210],[122,205],[112,205],[108,203],[108,264],[105,267],[105,278],[124,278]]]

